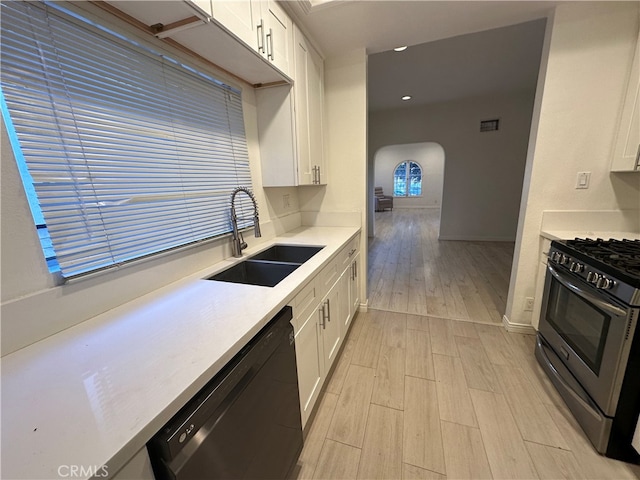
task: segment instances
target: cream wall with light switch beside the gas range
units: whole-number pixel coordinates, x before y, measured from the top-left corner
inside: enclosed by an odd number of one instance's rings
[[[568,2],[549,19],[506,309],[512,324],[531,323],[524,298],[535,292],[544,210],[636,209],[640,215],[640,175],[609,172],[638,8],[637,2]],[[591,172],[587,190],[574,188],[579,171]]]

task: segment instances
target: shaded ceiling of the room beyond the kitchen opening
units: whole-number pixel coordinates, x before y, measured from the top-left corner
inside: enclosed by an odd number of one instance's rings
[[[370,55],[369,111],[534,92],[544,29],[545,20],[534,20]]]

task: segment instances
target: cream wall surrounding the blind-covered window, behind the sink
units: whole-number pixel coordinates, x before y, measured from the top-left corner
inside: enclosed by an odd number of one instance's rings
[[[114,28],[139,35],[139,32],[120,24]],[[175,51],[170,53],[181,56]],[[228,78],[223,72],[216,72],[204,65],[200,65],[200,68],[209,69],[221,80],[243,90],[253,189],[263,227],[263,238],[254,239],[252,234],[247,234],[245,240],[249,245],[256,245],[296,226],[296,223],[300,225],[297,189],[262,188],[253,89],[236,79]],[[117,271],[105,272],[66,285],[57,285],[44,261],[4,123],[0,125],[0,133],[2,355],[231,256],[229,239],[225,237],[183,252],[126,266]],[[288,207],[284,206],[283,195],[289,196]]]

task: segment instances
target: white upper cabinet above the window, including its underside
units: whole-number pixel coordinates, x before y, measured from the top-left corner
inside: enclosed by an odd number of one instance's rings
[[[107,3],[251,85],[291,83],[293,24],[273,0]]]

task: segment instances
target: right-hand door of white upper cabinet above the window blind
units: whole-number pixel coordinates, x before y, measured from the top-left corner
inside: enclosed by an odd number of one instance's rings
[[[267,59],[291,76],[293,22],[274,0],[262,2],[262,20]]]

